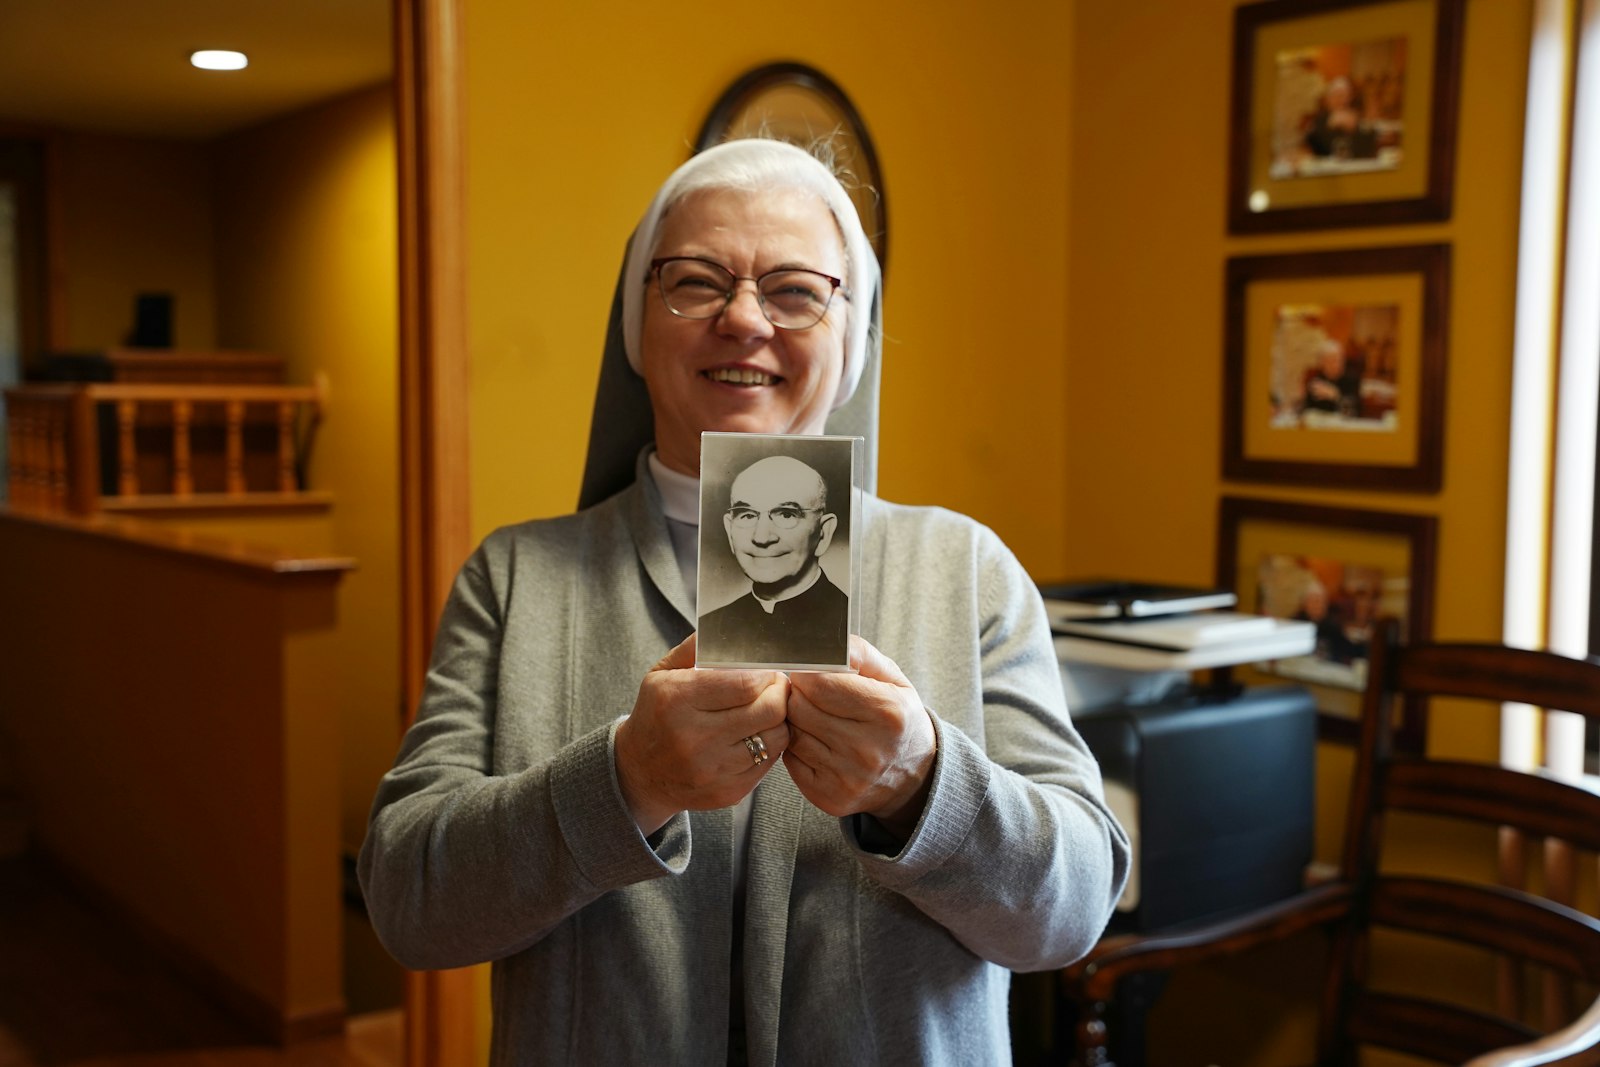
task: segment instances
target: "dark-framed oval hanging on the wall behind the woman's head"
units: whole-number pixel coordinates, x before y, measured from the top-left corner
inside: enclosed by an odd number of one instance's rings
[[[741,75],[712,107],[694,150],[762,131],[794,144],[826,138],[861,226],[872,240],[878,269],[888,277],[888,200],[872,134],[845,91],[816,67],[773,62]]]

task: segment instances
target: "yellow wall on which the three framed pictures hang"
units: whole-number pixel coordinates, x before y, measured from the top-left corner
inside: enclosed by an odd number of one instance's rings
[[[1069,357],[1059,414],[1070,509],[1062,553],[1072,571],[1210,581],[1221,494],[1437,515],[1434,633],[1499,638],[1531,5],[1466,6],[1453,218],[1262,237],[1226,232],[1235,0],[1077,6]],[[1430,242],[1448,243],[1454,258],[1443,488],[1419,494],[1224,482],[1227,258]],[[1430,747],[1493,758],[1493,717],[1435,731]],[[1333,859],[1342,838],[1349,768],[1347,750],[1323,745],[1320,859]],[[1400,853],[1416,862],[1426,845],[1411,835]],[[1278,1064],[1304,1054],[1315,987],[1296,979],[1302,949],[1174,981],[1150,1021],[1152,1062]],[[1251,1006],[1243,1027],[1214,1025],[1214,1013],[1242,1003]],[[1278,1024],[1250,1022],[1256,1019]]]

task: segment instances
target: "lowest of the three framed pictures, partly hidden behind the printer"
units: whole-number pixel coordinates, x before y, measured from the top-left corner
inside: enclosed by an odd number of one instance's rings
[[[1354,742],[1373,622],[1395,616],[1408,641],[1432,635],[1438,520],[1432,515],[1224,496],[1218,585],[1238,609],[1317,627],[1310,654],[1238,669],[1293,680],[1317,694],[1318,733]],[[1421,744],[1424,709],[1406,707],[1400,736]]]

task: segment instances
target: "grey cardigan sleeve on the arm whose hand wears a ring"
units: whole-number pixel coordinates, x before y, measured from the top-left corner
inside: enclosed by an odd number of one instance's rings
[[[510,955],[610,889],[688,864],[686,816],[646,841],[627,813],[616,718],[515,774],[493,773],[504,625],[493,574],[480,547],[456,579],[418,721],[362,845],[373,926],[408,968]]]

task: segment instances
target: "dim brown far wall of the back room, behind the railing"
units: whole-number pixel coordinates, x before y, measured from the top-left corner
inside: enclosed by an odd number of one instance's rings
[[[138,293],[171,293],[179,347],[216,346],[211,165],[189,141],[54,138],[56,245],[66,336],[82,352],[125,344]]]

